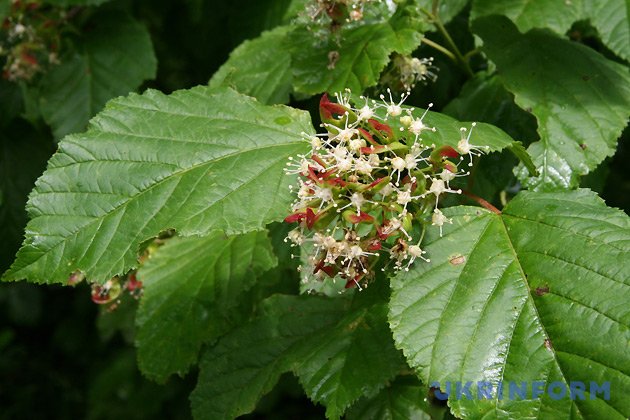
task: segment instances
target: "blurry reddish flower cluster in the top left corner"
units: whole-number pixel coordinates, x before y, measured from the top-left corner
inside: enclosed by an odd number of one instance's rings
[[[58,64],[59,29],[66,18],[61,9],[13,0],[9,16],[0,25],[0,59],[5,58],[2,77],[30,81],[47,66]]]

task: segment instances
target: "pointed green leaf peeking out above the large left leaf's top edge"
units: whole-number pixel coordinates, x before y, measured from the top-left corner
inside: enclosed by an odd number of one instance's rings
[[[210,87],[231,86],[264,104],[289,102],[291,55],[284,42],[290,30],[281,26],[243,42],[212,76]]]

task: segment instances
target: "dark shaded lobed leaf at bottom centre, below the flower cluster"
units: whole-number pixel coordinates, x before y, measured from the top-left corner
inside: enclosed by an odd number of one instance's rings
[[[245,414],[279,376],[293,370],[307,395],[339,418],[404,366],[387,325],[387,283],[354,298],[276,296],[252,322],[203,356],[192,395],[198,418]]]

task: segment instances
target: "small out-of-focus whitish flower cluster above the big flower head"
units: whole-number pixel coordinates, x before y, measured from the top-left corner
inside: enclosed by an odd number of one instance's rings
[[[416,58],[395,54],[388,69],[383,72],[380,84],[406,92],[413,89],[418,82],[435,82],[438,70],[433,65],[433,57]]]

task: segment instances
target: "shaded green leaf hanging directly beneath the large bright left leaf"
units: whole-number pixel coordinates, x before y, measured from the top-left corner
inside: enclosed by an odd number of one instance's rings
[[[138,363],[163,382],[183,375],[202,343],[224,332],[229,309],[257,277],[277,264],[266,231],[226,237],[173,238],[138,270]]]

